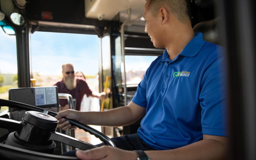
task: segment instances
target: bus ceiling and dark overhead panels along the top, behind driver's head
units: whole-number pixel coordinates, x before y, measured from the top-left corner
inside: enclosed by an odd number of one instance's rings
[[[9,24],[13,12],[20,13],[35,31],[95,34],[101,37],[111,28],[119,31],[128,17],[124,30],[144,33],[143,19],[146,0],[0,0],[4,22]],[[214,18],[215,0],[188,2],[192,25]],[[10,24],[11,25],[11,24]]]

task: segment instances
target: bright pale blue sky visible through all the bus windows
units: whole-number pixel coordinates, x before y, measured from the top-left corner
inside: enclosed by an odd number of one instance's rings
[[[40,75],[61,75],[61,65],[73,63],[85,75],[98,73],[99,38],[96,35],[35,32],[31,34],[32,71]],[[146,70],[156,57],[127,56],[126,71]],[[17,74],[15,36],[0,28],[0,72]]]

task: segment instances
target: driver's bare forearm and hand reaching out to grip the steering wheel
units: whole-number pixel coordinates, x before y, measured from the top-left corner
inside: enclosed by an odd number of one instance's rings
[[[145,112],[146,108],[140,107],[131,101],[127,106],[100,112],[80,112],[68,109],[60,111],[55,118],[59,120],[58,128],[67,130],[72,128],[72,126],[62,117],[74,119],[88,125],[124,126],[136,122]]]

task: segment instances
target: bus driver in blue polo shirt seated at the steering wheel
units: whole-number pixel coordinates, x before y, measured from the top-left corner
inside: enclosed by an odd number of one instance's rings
[[[149,66],[132,101],[102,112],[60,111],[58,128],[73,128],[62,117],[83,124],[123,126],[146,113],[136,134],[112,138],[116,147],[77,150],[76,156],[84,160],[225,159],[228,129],[221,47],[194,33],[186,0],[148,0],[143,16],[145,32],[156,48],[165,51]],[[175,72],[189,76],[173,76]]]

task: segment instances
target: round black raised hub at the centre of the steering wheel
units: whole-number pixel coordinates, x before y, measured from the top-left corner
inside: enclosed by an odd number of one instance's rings
[[[37,111],[26,111],[21,120],[22,129],[10,133],[5,144],[43,153],[52,153],[56,144],[49,138],[51,132],[56,131],[58,122],[53,116]]]

